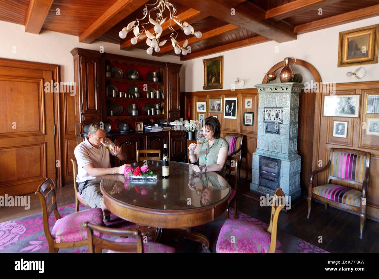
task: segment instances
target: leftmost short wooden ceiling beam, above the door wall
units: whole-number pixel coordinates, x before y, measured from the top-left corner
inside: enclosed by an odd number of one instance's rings
[[[39,34],[53,0],[31,0],[25,20],[25,32]]]

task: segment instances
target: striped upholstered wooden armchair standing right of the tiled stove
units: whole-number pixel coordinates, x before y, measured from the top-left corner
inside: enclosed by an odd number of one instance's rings
[[[327,184],[314,186],[316,173],[328,170]],[[335,207],[359,212],[360,239],[366,221],[366,198],[370,170],[370,153],[347,148],[332,148],[328,164],[310,175],[308,187],[308,216],[311,199],[315,198]]]

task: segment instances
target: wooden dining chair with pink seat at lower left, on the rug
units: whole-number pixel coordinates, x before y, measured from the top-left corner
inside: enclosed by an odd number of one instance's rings
[[[46,189],[49,191],[44,194]],[[101,208],[86,209],[62,217],[58,211],[55,184],[51,178],[46,178],[34,194],[41,200],[44,232],[49,243],[49,252],[58,252],[60,248],[87,246],[87,231],[82,227],[83,222],[103,224]],[[51,213],[54,213],[56,222],[50,230],[49,216]],[[96,232],[96,235],[100,236],[100,233]]]

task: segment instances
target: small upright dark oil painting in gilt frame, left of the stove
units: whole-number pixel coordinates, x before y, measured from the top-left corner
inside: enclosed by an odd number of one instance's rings
[[[203,59],[204,63],[204,86],[203,89],[222,89],[224,57],[219,56]]]

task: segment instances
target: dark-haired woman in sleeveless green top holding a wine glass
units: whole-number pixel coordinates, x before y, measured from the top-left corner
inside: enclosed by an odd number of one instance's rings
[[[199,166],[192,166],[195,172],[217,172],[222,177],[226,174],[226,158],[229,143],[220,137],[221,125],[217,118],[208,117],[203,120],[204,141],[201,144],[191,143],[189,161],[199,161]]]

